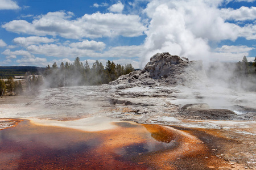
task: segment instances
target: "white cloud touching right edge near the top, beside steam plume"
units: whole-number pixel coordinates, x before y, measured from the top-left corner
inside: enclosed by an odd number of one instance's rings
[[[236,10],[233,8],[222,8],[220,10],[221,17],[226,20],[255,20],[256,19],[256,7],[242,6]]]

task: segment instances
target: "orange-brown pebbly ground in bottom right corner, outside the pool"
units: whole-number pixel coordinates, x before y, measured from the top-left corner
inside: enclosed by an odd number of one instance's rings
[[[203,129],[172,126],[196,136],[209,148],[212,157],[225,160],[220,169],[255,169],[256,144],[254,135],[238,134],[251,128]]]

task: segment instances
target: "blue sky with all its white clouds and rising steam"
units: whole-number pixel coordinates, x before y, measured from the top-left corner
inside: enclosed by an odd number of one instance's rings
[[[0,0],[0,66],[256,56],[256,0]]]

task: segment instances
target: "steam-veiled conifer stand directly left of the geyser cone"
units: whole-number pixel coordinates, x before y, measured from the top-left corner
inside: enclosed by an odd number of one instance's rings
[[[47,66],[43,76],[46,79],[47,88],[63,86],[92,86],[108,84],[123,74],[129,74],[134,71],[129,63],[125,66],[115,64],[113,61],[106,62],[104,65],[96,60],[92,67],[88,61],[83,64],[80,58],[76,57],[73,63],[61,62],[60,67],[56,62],[52,66]]]

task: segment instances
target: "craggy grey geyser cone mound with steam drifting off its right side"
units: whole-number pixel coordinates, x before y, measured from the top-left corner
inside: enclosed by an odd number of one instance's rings
[[[122,75],[112,85],[128,86],[191,86],[206,78],[201,61],[188,61],[188,58],[172,56],[170,53],[156,53],[143,70]]]

